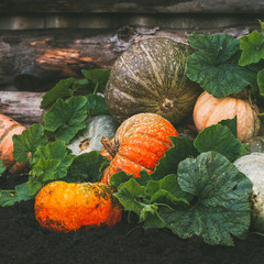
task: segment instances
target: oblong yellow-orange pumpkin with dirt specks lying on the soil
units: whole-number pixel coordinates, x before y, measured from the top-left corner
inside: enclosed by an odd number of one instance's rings
[[[103,183],[53,182],[36,195],[35,218],[59,232],[114,226],[122,208],[112,194],[113,188]]]

